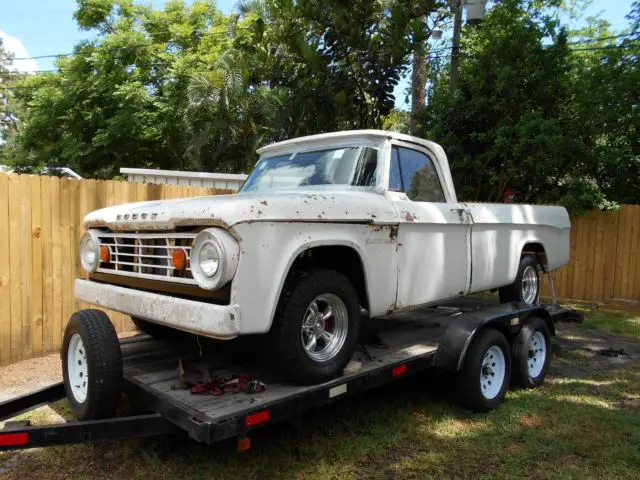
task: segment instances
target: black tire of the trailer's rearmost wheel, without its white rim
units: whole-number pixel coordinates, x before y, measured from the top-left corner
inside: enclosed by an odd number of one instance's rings
[[[529,375],[529,342],[536,332],[542,333],[546,342],[546,356],[544,359],[544,365],[540,374],[537,377],[531,377]],[[542,385],[547,371],[549,370],[549,364],[551,363],[551,334],[549,333],[549,327],[546,322],[540,317],[530,317],[527,323],[522,326],[522,329],[516,336],[513,342],[512,349],[513,357],[513,383],[522,388],[534,388]]]

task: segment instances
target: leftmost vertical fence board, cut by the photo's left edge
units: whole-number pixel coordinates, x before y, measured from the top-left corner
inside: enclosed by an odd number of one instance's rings
[[[11,361],[9,176],[0,173],[0,365]]]

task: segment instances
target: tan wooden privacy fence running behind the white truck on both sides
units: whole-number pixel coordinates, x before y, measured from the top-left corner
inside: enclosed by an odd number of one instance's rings
[[[73,282],[88,212],[120,203],[226,193],[203,187],[0,174],[0,364],[56,351],[79,308]],[[560,298],[640,300],[640,206],[574,218]],[[544,284],[543,294],[548,295]],[[109,312],[118,331],[128,316]]]

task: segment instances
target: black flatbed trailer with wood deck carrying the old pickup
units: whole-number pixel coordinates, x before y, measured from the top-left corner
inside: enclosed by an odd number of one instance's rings
[[[470,299],[460,299],[455,303],[417,312],[395,314],[393,320],[372,319],[367,322],[370,328],[363,335],[348,373],[309,386],[282,381],[273,370],[254,358],[250,345],[239,349],[234,348],[233,344],[227,344],[226,348],[223,345],[218,350],[202,349],[193,338],[160,341],[147,335],[138,335],[120,342],[123,392],[151,413],[38,426],[30,425],[28,421],[6,422],[0,430],[0,451],[180,431],[209,445],[235,437],[238,439],[238,449],[246,450],[250,446],[249,435],[256,428],[430,368],[456,375],[457,383],[465,391],[466,397],[472,398],[476,385],[479,385],[478,392],[481,397],[484,395],[485,402],[470,405],[468,398],[465,401],[472,408],[486,411],[497,406],[501,400],[500,389],[506,390],[508,387],[511,362],[514,362],[515,373],[518,367],[516,362],[521,360],[518,360],[517,352],[514,352],[513,359],[511,352],[503,355],[504,385],[500,384],[496,390],[494,385],[489,384],[492,379],[497,381],[500,377],[500,364],[493,360],[484,362],[489,358],[486,355],[480,359],[474,358],[474,350],[478,349],[478,345],[491,335],[499,334],[508,340],[513,349],[521,332],[534,321],[542,322],[553,334],[554,322],[580,320],[579,314],[559,306],[531,307],[513,303],[487,307],[486,302]],[[542,337],[537,338],[540,340]],[[531,345],[534,345],[533,340]],[[529,349],[527,358],[522,360],[526,363],[520,366],[525,373],[537,373],[533,380],[539,379],[541,383],[548,366],[547,357],[540,358],[543,366],[533,365],[535,368],[527,370],[537,358],[536,355],[540,355],[539,351],[542,352],[536,348]],[[490,352],[491,349],[487,355]],[[550,355],[550,348],[546,348],[544,354]],[[477,364],[481,365],[478,372],[475,371],[474,362],[480,362]],[[266,388],[256,393],[196,395],[183,385],[189,372],[192,376],[196,372],[195,375],[211,380],[242,374],[258,379]],[[517,376],[514,376],[515,379]],[[494,391],[496,393],[492,396]],[[64,396],[65,389],[62,383],[58,383],[9,400],[0,404],[0,420],[13,418]]]

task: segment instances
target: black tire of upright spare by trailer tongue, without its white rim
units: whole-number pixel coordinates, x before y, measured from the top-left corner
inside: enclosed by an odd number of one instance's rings
[[[80,403],[71,390],[68,372],[69,342],[80,335],[86,350],[87,397]],[[67,399],[80,420],[95,420],[112,416],[120,401],[122,355],[120,342],[111,321],[100,310],[80,310],[69,319],[62,343],[62,374]]]

